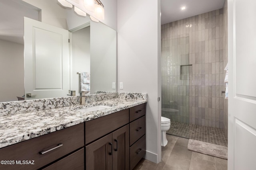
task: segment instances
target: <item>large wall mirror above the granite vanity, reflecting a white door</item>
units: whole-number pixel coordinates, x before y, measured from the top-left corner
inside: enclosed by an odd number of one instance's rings
[[[116,31],[104,23],[57,0],[1,0],[0,23],[0,102],[79,96],[77,72],[90,73],[88,94],[116,92]]]

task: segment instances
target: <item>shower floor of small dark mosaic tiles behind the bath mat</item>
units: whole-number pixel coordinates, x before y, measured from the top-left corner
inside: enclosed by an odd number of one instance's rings
[[[219,128],[171,121],[170,129],[166,133],[224,147],[228,146],[228,139],[225,138],[224,130]]]

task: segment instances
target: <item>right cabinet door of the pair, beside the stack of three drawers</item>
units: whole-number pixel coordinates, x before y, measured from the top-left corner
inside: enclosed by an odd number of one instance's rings
[[[129,125],[112,133],[113,170],[129,170]]]

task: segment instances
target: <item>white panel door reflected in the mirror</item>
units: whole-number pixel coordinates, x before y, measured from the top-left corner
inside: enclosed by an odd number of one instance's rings
[[[69,56],[68,30],[24,17],[25,99],[66,96]]]

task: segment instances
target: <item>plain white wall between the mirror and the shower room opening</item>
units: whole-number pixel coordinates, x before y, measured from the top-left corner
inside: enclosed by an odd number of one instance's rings
[[[159,162],[158,4],[157,0],[118,0],[119,92],[148,93],[146,159]]]

